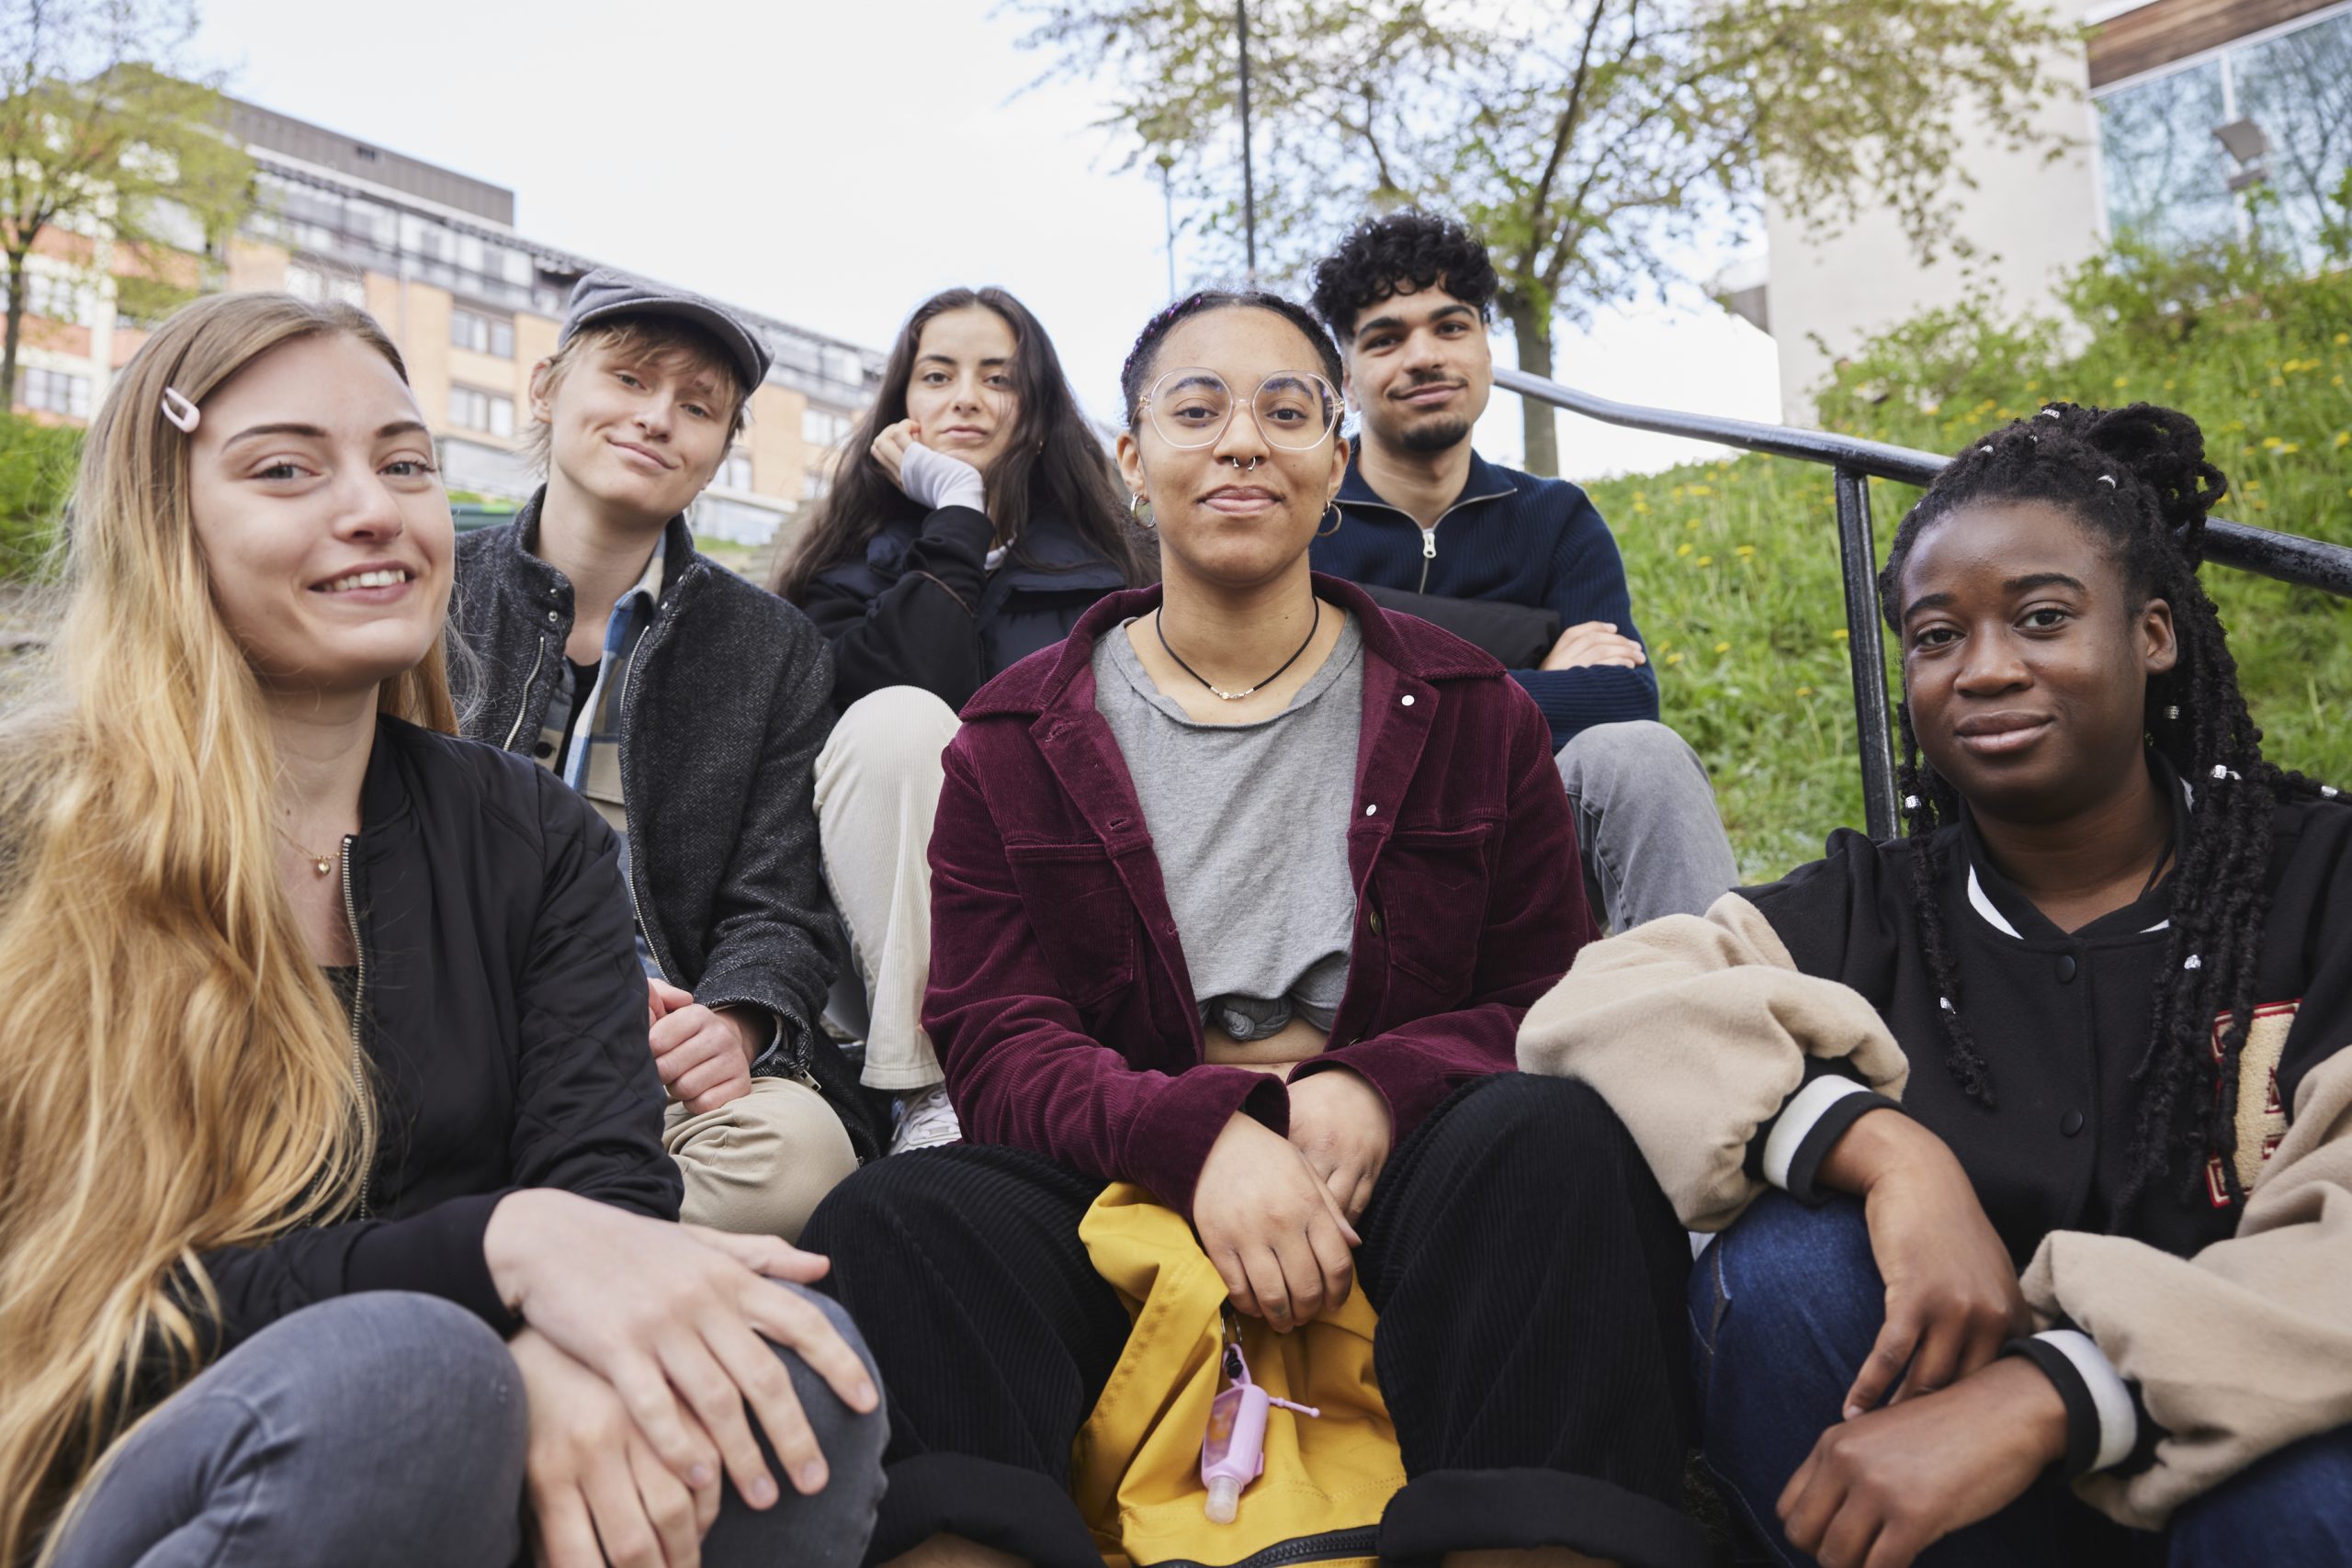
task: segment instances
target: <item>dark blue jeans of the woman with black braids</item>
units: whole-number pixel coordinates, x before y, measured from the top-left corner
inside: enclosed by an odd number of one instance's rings
[[[1780,1488],[1839,1420],[1886,1319],[1863,1206],[1806,1208],[1769,1192],[1691,1269],[1691,1371],[1708,1469],[1764,1542],[1766,1563],[1809,1563],[1780,1535]],[[2230,1476],[2161,1533],[2126,1530],[2046,1476],[1983,1523],[1943,1537],[1922,1568],[2352,1566],[2352,1427],[2321,1432]]]

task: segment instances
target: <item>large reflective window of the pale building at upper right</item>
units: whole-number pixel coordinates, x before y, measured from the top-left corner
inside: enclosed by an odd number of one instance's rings
[[[2260,228],[2319,266],[2321,226],[2352,169],[2347,85],[2352,7],[2107,87],[2098,94],[2107,226],[2169,249]]]

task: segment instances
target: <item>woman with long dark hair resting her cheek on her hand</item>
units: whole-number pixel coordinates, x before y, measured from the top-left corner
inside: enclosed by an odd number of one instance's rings
[[[946,289],[898,329],[776,576],[833,644],[842,719],[816,759],[816,825],[868,999],[866,1086],[901,1105],[894,1150],[957,1135],[917,1018],[938,752],[983,682],[1157,576],[1127,517],[1037,317],[1004,289]]]

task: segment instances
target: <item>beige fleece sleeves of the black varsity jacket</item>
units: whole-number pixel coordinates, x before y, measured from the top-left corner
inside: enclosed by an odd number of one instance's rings
[[[1755,1131],[1849,1058],[1903,1095],[1907,1063],[1853,990],[1802,976],[1738,893],[1592,943],[1526,1013],[1519,1067],[1592,1084],[1691,1229],[1724,1229],[1764,1185]],[[2298,1439],[2352,1422],[2352,1051],[2314,1067],[2237,1234],[2194,1258],[2051,1232],[2023,1276],[2049,1326],[2089,1333],[2169,1436],[2136,1476],[2084,1476],[2086,1502],[2161,1528],[2176,1507]]]

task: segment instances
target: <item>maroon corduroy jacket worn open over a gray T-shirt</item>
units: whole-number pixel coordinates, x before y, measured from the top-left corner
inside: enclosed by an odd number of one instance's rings
[[[1315,576],[1364,635],[1348,870],[1357,889],[1334,1046],[1402,1143],[1512,1067],[1519,1018],[1592,940],[1550,729],[1503,665]],[[964,1135],[1134,1180],[1190,1213],[1237,1110],[1287,1131],[1279,1079],[1202,1060],[1200,1013],[1143,809],[1094,710],[1094,642],[1160,602],[1110,595],[1068,642],[964,705],[931,832],[931,1032]],[[1247,802],[1282,811],[1282,802]]]

